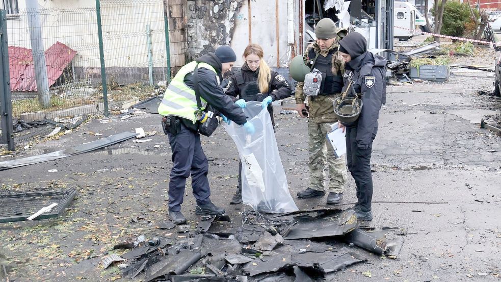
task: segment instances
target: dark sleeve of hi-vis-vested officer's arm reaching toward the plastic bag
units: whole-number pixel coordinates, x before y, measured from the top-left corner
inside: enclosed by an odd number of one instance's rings
[[[204,98],[208,104],[212,105],[229,120],[236,124],[247,122],[244,111],[231,100],[231,97],[223,92],[216,80],[214,71],[206,68],[198,69],[198,87],[200,97]]]

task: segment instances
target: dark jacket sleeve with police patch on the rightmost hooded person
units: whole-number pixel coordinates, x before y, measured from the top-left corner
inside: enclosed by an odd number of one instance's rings
[[[362,112],[357,124],[357,146],[366,149],[374,140],[378,132],[378,118],[381,110],[383,88],[385,84],[384,76],[379,67],[373,67],[371,74],[374,76],[374,85],[369,88],[365,83],[366,76],[360,77],[362,94]]]

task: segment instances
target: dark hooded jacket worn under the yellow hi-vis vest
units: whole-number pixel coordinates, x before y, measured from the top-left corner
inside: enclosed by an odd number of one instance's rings
[[[198,68],[198,87],[199,95],[212,105],[229,120],[234,121],[236,124],[244,124],[247,122],[244,111],[239,106],[236,106],[231,97],[226,95],[223,89],[219,86],[222,81],[222,65],[218,57],[214,53],[208,53],[195,60],[197,63],[207,63],[216,69],[217,75],[214,71],[204,67]],[[195,89],[195,77],[193,73],[188,73],[184,76],[184,83],[191,89]]]

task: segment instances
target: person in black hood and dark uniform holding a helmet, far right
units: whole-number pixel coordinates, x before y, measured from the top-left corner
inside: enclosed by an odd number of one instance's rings
[[[358,119],[351,124],[339,122],[346,128],[348,170],[357,186],[358,202],[355,215],[359,220],[372,220],[373,182],[371,172],[372,143],[378,132],[379,111],[386,103],[386,59],[367,52],[367,41],[357,32],[339,42],[341,59],[346,62],[345,87],[351,96],[358,95],[363,105]]]

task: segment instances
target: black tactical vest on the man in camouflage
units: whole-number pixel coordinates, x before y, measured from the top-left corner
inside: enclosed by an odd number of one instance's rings
[[[320,70],[322,73],[322,84],[320,85],[319,95],[334,95],[341,93],[342,90],[342,76],[332,74],[332,56],[336,53],[337,48],[333,48],[327,54],[327,57],[315,53],[314,48],[311,48],[308,53],[308,58],[315,60],[313,68]]]

